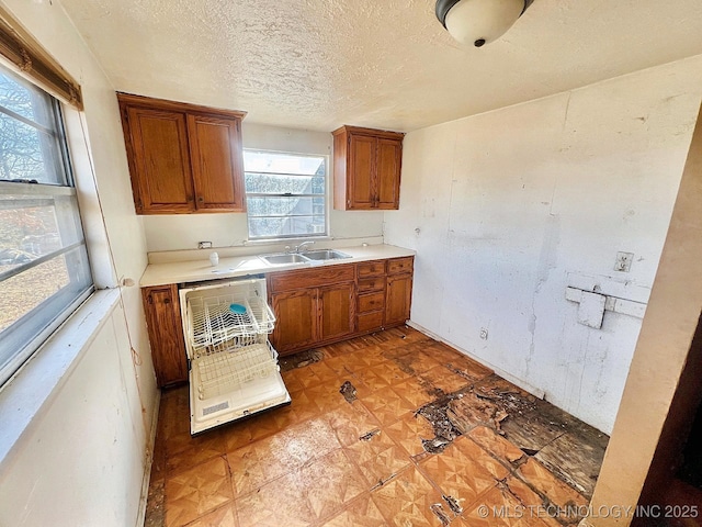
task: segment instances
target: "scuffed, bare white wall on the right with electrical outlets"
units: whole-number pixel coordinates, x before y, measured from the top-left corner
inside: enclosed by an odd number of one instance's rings
[[[408,134],[412,322],[610,433],[641,319],[578,324],[568,273],[650,288],[701,93],[698,56]]]

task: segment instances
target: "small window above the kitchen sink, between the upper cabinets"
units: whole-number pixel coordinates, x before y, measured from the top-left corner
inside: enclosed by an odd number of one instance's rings
[[[327,235],[327,157],[244,150],[250,239]]]

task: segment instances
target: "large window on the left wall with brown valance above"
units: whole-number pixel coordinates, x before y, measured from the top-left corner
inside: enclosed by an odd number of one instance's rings
[[[59,102],[0,69],[0,384],[92,290]]]

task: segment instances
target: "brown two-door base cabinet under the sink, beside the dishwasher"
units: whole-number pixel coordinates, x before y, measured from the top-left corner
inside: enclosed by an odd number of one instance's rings
[[[281,355],[354,333],[353,265],[275,272],[268,283],[278,319],[271,343]]]

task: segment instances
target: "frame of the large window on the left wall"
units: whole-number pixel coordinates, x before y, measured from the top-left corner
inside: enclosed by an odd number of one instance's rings
[[[88,250],[88,242],[86,239],[86,228],[78,200],[78,189],[73,177],[61,102],[42,87],[18,76],[7,67],[0,67],[0,75],[9,77],[11,80],[15,81],[29,91],[38,91],[41,96],[45,98],[48,111],[50,111],[50,128],[4,106],[0,106],[0,113],[39,131],[39,133],[50,135],[56,146],[52,162],[56,169],[60,170],[60,175],[57,175],[57,179],[59,181],[55,182],[36,181],[32,179],[0,180],[0,194],[69,198],[72,201],[73,206],[71,206],[71,214],[68,217],[71,217],[76,225],[80,227],[80,236],[77,240],[68,243],[66,246],[61,245],[61,247],[55,250],[38,255],[31,261],[22,262],[11,269],[0,272],[0,283],[2,283],[5,280],[18,277],[23,272],[55,258],[67,257],[65,261],[69,277],[69,282],[66,287],[42,300],[34,307],[20,315],[9,326],[2,329],[1,335],[5,346],[8,346],[9,343],[11,347],[16,346],[16,350],[14,354],[7,354],[3,356],[2,354],[7,351],[7,348],[0,348],[1,389],[2,385],[12,379],[22,366],[42,348],[50,336],[78,310],[78,307],[94,293],[95,282]],[[71,254],[76,255],[76,257],[81,260],[81,266],[77,272],[70,269],[70,261],[68,260],[68,257]],[[76,277],[82,277],[86,280],[84,282],[82,280],[73,282]],[[71,288],[71,282],[80,287],[73,290]],[[37,316],[39,313],[43,315],[39,324],[32,325],[32,318]]]

